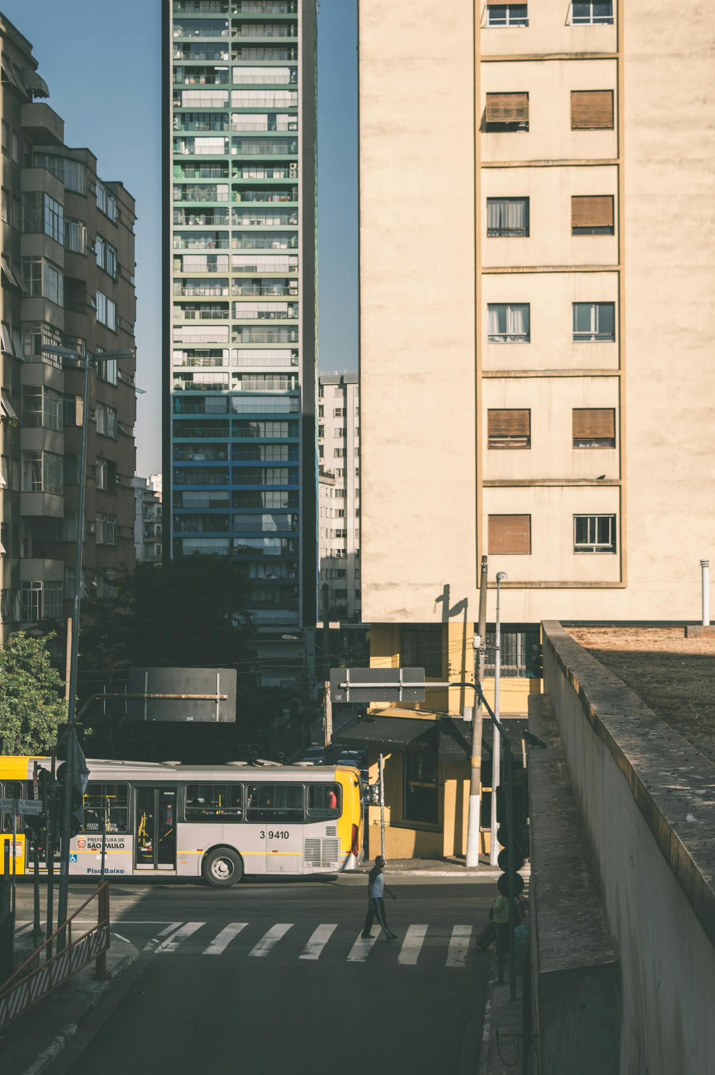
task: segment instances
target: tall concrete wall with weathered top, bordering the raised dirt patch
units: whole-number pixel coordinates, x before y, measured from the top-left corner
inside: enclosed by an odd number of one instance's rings
[[[623,1075],[710,1075],[715,766],[556,621],[544,680],[621,968]]]

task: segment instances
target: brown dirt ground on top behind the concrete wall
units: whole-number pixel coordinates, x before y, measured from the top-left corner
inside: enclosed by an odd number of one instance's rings
[[[715,637],[682,627],[573,627],[569,633],[715,762]]]

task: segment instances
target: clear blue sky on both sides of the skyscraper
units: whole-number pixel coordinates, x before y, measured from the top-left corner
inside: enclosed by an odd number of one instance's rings
[[[32,42],[69,145],[137,199],[137,472],[161,470],[161,145],[158,0],[0,0]],[[318,12],[319,354],[357,369],[357,0]]]

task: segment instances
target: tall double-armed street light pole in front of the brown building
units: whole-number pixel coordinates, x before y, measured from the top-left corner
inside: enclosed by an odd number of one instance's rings
[[[74,732],[76,692],[77,692],[77,655],[80,651],[80,601],[82,597],[82,545],[84,538],[85,485],[87,476],[87,429],[89,422],[89,369],[92,357],[89,352],[81,355],[69,347],[44,346],[43,352],[58,355],[60,358],[76,361],[84,372],[83,406],[82,406],[82,448],[80,453],[80,494],[77,500],[77,535],[74,554],[74,597],[72,600],[72,644],[70,648],[70,683],[67,704],[67,748],[65,766],[65,786],[62,788],[62,831],[60,833],[60,873],[59,892],[57,895],[57,924],[61,927],[67,921],[67,905],[70,885],[70,831],[72,823],[72,777],[76,768],[76,735]],[[133,358],[133,350],[106,350],[96,361],[105,362],[113,359]],[[65,934],[57,938],[57,949],[65,947]]]

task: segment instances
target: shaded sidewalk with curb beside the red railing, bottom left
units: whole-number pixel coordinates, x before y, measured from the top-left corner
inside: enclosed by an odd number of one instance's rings
[[[2,1075],[41,1075],[77,1033],[117,978],[139,958],[132,944],[114,933],[106,954],[106,978],[95,978],[90,963],[59,986],[0,1035]]]

